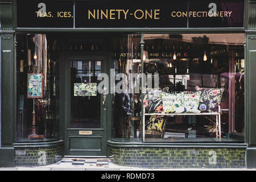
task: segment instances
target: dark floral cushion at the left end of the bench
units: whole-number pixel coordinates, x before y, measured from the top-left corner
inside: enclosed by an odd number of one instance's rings
[[[163,89],[164,92],[168,92],[167,88]],[[163,111],[163,100],[161,89],[145,89],[143,97],[143,107],[145,113],[162,113]]]

